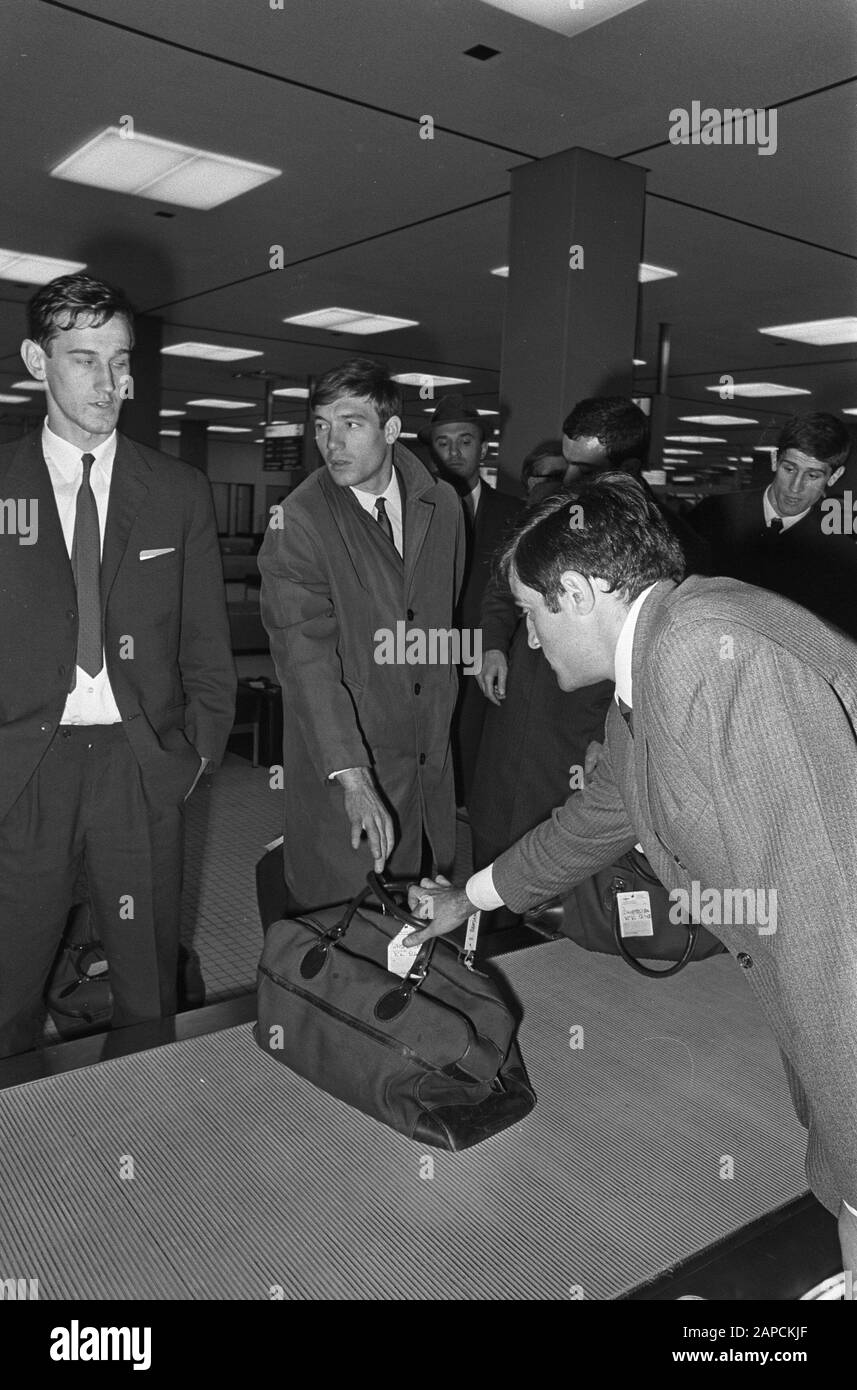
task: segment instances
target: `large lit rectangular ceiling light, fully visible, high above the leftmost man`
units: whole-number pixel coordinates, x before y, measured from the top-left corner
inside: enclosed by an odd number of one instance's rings
[[[126,133],[118,125],[108,125],[57,164],[50,171],[51,178],[207,211],[282,174],[267,164],[251,164],[193,145],[160,140],[139,131],[124,138]]]

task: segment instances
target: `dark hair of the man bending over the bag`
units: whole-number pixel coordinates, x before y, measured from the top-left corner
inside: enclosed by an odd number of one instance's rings
[[[685,557],[669,524],[636,478],[601,473],[590,484],[546,498],[517,527],[497,562],[560,610],[561,577],[576,570],[606,580],[629,603],[658,580],[685,577]]]

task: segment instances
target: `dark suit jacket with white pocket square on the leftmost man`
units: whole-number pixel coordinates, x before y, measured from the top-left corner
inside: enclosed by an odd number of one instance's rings
[[[0,817],[54,737],[75,670],[71,560],[42,432],[0,448],[0,498],[38,507],[38,539],[0,535]],[[143,550],[169,550],[142,560]],[[211,491],[196,468],[122,435],[101,553],[104,656],[144,784],[181,795],[199,758],[219,762],[235,667]]]

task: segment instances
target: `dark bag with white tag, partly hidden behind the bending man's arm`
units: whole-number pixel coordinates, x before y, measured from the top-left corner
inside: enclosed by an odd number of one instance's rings
[[[622,938],[617,894],[640,891],[649,894],[654,935]],[[646,856],[632,849],[610,869],[603,869],[572,890],[563,902],[563,919],[557,923],[557,930],[586,951],[621,955],[638,974],[657,979],[678,974],[690,960],[704,960],[726,949],[722,941],[699,923],[671,922],[671,906],[669,894],[660,878],[654,877]],[[674,963],[665,970],[653,970],[643,965],[640,956]]]

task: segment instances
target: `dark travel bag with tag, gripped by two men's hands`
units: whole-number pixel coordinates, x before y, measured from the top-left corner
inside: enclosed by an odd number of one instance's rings
[[[368,876],[344,908],[268,927],[256,1040],[278,1062],[408,1138],[458,1151],[524,1119],[535,1094],[496,981],[451,942],[388,967],[407,888]],[[372,905],[371,899],[378,905]]]

